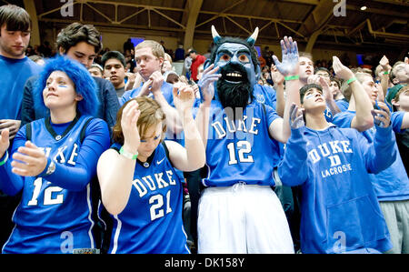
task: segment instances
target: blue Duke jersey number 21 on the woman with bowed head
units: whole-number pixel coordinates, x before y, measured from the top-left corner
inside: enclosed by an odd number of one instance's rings
[[[115,149],[121,146],[114,144]],[[182,220],[182,184],[159,145],[146,163],[137,161],[125,209],[113,217],[109,253],[190,253]]]

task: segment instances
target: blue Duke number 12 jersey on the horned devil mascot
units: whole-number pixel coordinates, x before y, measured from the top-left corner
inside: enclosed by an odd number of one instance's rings
[[[232,121],[220,102],[212,101],[204,186],[232,186],[240,181],[274,186],[280,150],[268,128],[278,117],[270,106],[254,102],[245,107],[241,119]]]

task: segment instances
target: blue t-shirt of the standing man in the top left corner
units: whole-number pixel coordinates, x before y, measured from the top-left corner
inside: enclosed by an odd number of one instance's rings
[[[0,119],[20,120],[25,82],[38,75],[41,66],[25,56],[23,59],[0,55]]]

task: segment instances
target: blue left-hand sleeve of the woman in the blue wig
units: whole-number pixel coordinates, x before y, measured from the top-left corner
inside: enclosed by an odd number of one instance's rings
[[[25,141],[25,126],[23,126],[15,135],[15,140],[5,165],[0,166],[0,189],[8,196],[15,196],[23,189],[24,177],[15,175],[12,172],[11,162],[13,154],[15,154],[18,147],[25,146]],[[3,159],[5,159],[5,156],[0,161],[3,161]]]

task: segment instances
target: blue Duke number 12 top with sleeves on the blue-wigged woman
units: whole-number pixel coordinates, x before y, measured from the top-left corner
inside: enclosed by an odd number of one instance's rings
[[[11,159],[0,166],[0,188],[9,195],[22,192],[15,210],[15,228],[3,253],[73,253],[75,248],[95,248],[92,229],[91,179],[96,175],[99,156],[109,147],[106,123],[90,116],[53,125],[39,119],[31,125],[31,141],[55,161],[55,172],[45,176],[17,176],[11,172]],[[13,153],[25,145],[26,127],[15,136]],[[13,154],[12,153],[12,154]],[[12,156],[12,155],[11,155]]]

